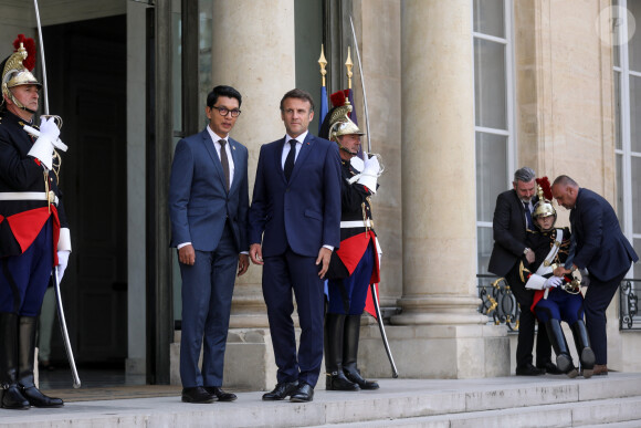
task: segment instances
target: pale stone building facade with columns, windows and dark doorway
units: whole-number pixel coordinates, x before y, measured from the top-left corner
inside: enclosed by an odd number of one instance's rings
[[[233,137],[250,150],[253,184],[260,146],[284,133],[281,96],[320,93],[320,44],[328,91],[347,87],[348,46],[356,62],[349,17],[362,61],[356,112],[364,124],[364,76],[367,138],[386,165],[374,209],[381,306],[401,377],[513,373],[514,336],[479,313],[477,275],[492,250],[496,196],[518,167],[567,174],[603,195],[641,252],[638,0],[40,6],[49,97],[70,142],[62,180],[75,250],[64,290],[80,362],[126,362],[149,383],[178,382],[180,276],[166,203],[174,146],[204,126],[210,88],[232,85],[243,95]],[[4,58],[18,33],[36,34],[35,19],[28,2],[0,9]],[[559,223],[569,223],[563,208]],[[275,384],[260,284],[252,265],[234,290],[229,385]],[[614,299],[608,364],[639,370],[630,356],[641,335],[620,331],[619,310]],[[378,326],[364,317],[361,328],[361,369],[391,376]]]

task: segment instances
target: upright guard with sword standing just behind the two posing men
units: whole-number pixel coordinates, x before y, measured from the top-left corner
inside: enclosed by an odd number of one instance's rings
[[[333,102],[336,97],[333,94]],[[345,97],[343,97],[345,100]],[[336,104],[336,103],[335,103]],[[349,118],[351,105],[340,103],[326,117],[328,139],[340,153],[340,248],[332,254],[327,272],[329,303],[325,315],[327,390],[378,389],[357,367],[360,315],[367,290],[379,282],[378,241],[370,197],[381,170],[376,156],[357,157],[364,133]],[[327,122],[323,128],[327,128]]]

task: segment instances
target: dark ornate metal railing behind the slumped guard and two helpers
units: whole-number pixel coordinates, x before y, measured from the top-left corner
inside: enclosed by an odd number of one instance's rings
[[[476,279],[481,299],[479,312],[487,315],[488,323],[505,324],[509,331],[518,331],[521,309],[505,279],[492,274],[477,274]],[[626,279],[619,288],[619,330],[641,330],[641,279]]]

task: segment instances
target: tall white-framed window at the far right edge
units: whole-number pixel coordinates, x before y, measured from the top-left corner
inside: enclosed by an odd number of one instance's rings
[[[641,253],[641,21],[637,31],[629,21],[630,15],[641,18],[641,1],[613,0],[612,6],[617,215],[623,233]],[[641,267],[633,269],[633,276],[641,276]]]

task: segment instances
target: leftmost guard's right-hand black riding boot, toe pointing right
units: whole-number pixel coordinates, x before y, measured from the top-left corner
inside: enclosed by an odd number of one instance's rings
[[[34,407],[62,407],[64,403],[60,398],[48,397],[42,394],[33,383],[33,365],[35,363],[35,333],[36,317],[21,316],[19,327],[19,379],[18,385],[22,395]]]

